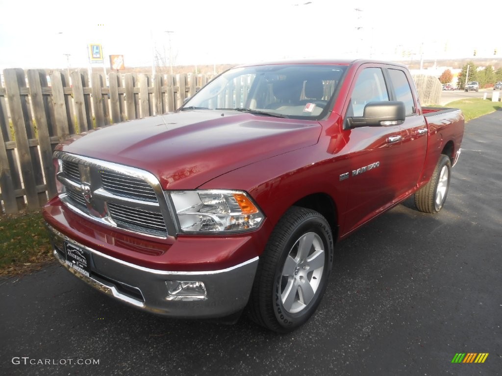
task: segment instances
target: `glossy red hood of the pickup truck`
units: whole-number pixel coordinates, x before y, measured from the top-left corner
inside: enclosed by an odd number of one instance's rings
[[[105,126],[58,148],[150,171],[163,189],[195,189],[233,169],[313,145],[320,133],[312,120],[192,110]]]

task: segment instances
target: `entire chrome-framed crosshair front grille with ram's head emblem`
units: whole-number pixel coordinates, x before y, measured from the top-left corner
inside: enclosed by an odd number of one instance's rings
[[[163,191],[150,172],[61,151],[54,156],[62,161],[57,178],[66,186],[60,199],[70,209],[127,231],[167,237],[168,224],[174,233]]]

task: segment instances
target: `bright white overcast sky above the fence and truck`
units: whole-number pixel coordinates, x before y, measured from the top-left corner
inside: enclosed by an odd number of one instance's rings
[[[0,70],[88,67],[89,44],[128,67],[297,58],[502,57],[502,2],[0,0]],[[493,15],[491,20],[482,15]],[[474,23],[465,25],[466,19]],[[167,33],[169,32],[169,33]],[[171,54],[170,54],[171,51]],[[66,56],[65,54],[69,54]]]

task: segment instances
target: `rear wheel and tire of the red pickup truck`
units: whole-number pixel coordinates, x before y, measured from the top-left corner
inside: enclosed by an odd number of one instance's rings
[[[441,154],[430,181],[415,193],[415,206],[424,213],[439,213],[448,195],[451,178],[451,160]]]

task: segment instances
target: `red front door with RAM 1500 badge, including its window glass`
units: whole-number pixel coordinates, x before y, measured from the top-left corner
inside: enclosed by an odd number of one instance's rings
[[[351,87],[345,117],[362,116],[369,102],[388,101],[382,67],[362,66]],[[350,150],[347,211],[342,233],[348,233],[383,211],[398,195],[394,165],[402,154],[399,125],[345,129]]]

